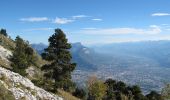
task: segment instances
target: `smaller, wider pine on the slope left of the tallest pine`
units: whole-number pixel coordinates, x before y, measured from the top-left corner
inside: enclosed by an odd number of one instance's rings
[[[19,36],[15,39],[16,47],[11,57],[11,66],[14,72],[23,76],[26,75],[25,69],[31,65],[33,57],[33,49]]]

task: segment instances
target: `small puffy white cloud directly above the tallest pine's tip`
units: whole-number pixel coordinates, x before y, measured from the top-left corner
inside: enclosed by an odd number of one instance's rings
[[[67,24],[67,23],[71,23],[71,22],[74,22],[75,20],[73,19],[68,19],[68,18],[56,18],[53,23],[56,23],[56,24]]]

